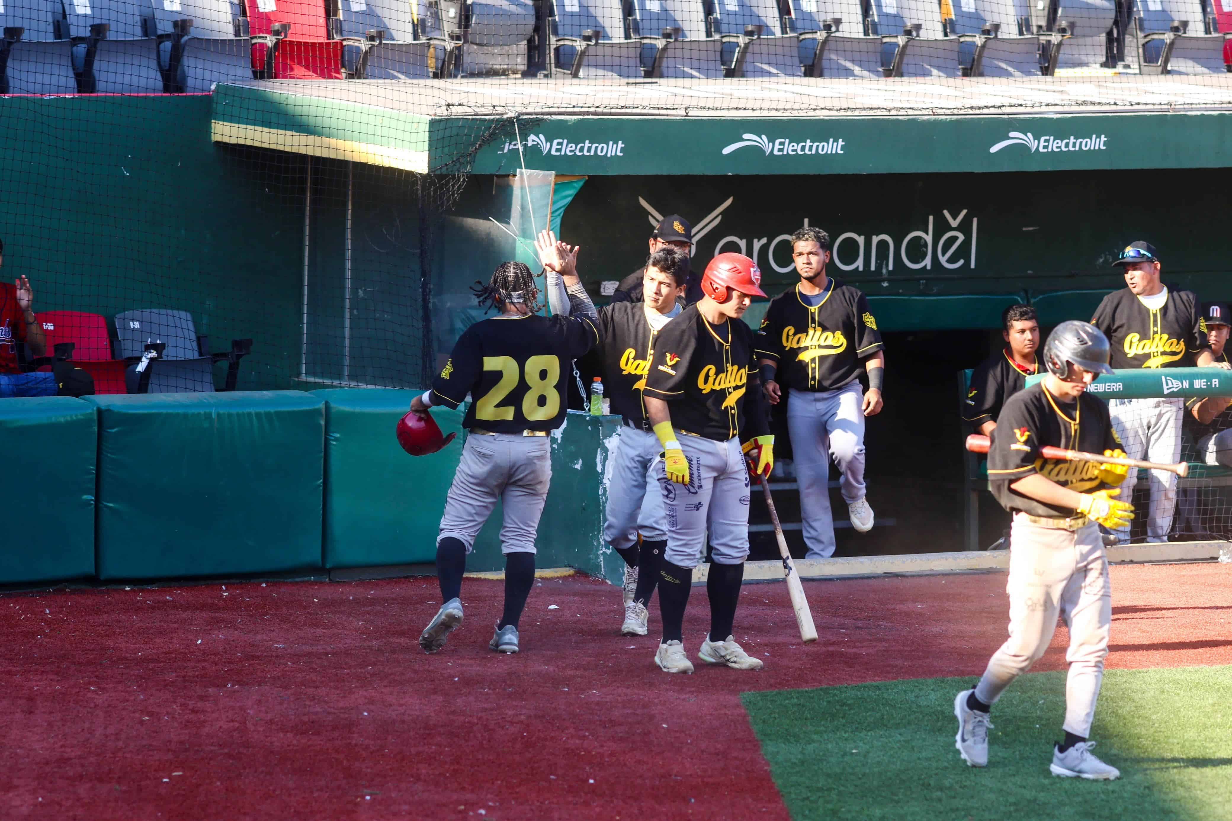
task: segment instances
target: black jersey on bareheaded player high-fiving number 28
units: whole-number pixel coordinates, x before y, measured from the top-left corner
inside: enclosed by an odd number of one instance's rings
[[[612,412],[641,426],[646,421],[642,388],[650,369],[650,353],[658,331],[646,318],[644,303],[620,302],[599,309],[599,354],[604,393]]]

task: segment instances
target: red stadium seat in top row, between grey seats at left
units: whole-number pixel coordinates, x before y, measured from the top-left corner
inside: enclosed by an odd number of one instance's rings
[[[341,80],[342,43],[331,39],[325,18],[325,0],[244,0],[254,36],[274,33],[272,26],[290,23],[274,54],[277,80]],[[260,52],[260,54],[257,54]],[[264,49],[254,49],[254,68]]]

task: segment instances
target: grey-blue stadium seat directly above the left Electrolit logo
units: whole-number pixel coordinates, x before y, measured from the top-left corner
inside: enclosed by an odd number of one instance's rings
[[[553,0],[552,65],[575,78],[643,76],[641,39],[626,30],[623,0]]]

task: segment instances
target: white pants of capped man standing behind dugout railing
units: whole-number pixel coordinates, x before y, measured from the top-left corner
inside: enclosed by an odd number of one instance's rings
[[[1112,430],[1121,437],[1121,447],[1131,459],[1162,464],[1180,460],[1180,420],[1184,414],[1180,399],[1110,399],[1108,411]],[[1133,476],[1121,490],[1121,499],[1131,501]],[[1167,470],[1149,471],[1151,501],[1147,508],[1147,542],[1167,542],[1172,516],[1177,510],[1177,474]],[[1117,542],[1130,540],[1130,527],[1114,531]]]

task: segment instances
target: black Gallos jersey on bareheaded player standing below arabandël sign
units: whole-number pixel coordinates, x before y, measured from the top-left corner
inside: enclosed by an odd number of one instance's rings
[[[796,390],[838,390],[864,370],[862,359],[886,346],[864,292],[833,277],[811,308],[800,298],[800,286],[770,300],[756,353],[772,359],[775,382]]]

